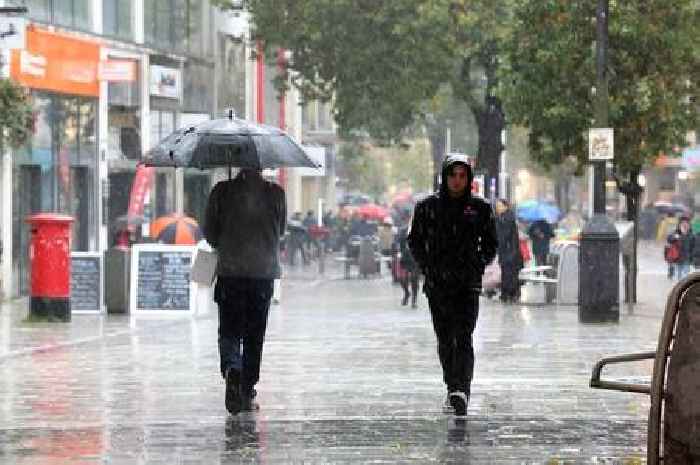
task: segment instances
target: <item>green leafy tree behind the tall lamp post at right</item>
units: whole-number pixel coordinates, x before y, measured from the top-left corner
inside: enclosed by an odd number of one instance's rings
[[[662,153],[675,154],[698,127],[695,3],[610,1],[607,75],[615,179],[635,222],[640,171]],[[514,11],[499,95],[510,121],[530,130],[531,156],[545,166],[587,161],[595,112],[595,9],[596,2],[519,0]]]

